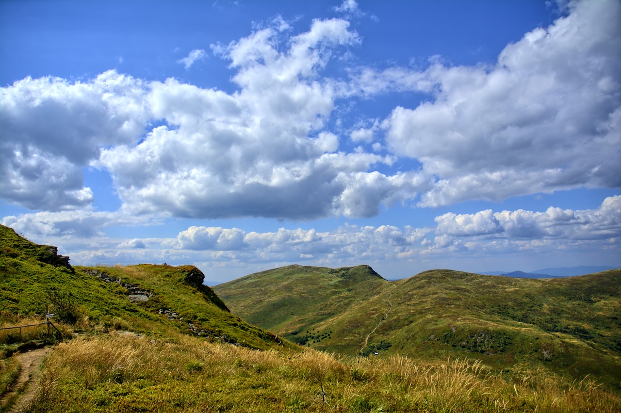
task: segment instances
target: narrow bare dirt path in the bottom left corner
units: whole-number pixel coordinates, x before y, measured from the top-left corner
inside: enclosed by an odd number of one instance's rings
[[[4,406],[4,403],[16,394],[19,389],[24,387],[25,384],[28,383],[28,386],[9,412],[18,413],[22,411],[34,398],[37,393],[37,386],[35,383],[37,383],[39,379],[39,366],[41,365],[43,357],[45,357],[49,351],[49,347],[43,347],[43,349],[30,350],[29,352],[20,353],[16,356],[22,368],[19,371],[16,382],[11,386],[11,390],[2,397],[0,405]]]

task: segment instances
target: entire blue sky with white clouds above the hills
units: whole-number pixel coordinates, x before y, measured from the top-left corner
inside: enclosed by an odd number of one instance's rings
[[[0,223],[73,265],[621,267],[621,1],[0,1]]]

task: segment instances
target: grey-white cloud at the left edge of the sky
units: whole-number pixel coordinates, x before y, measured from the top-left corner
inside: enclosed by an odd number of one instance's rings
[[[32,210],[89,207],[81,167],[101,147],[135,143],[148,111],[141,81],[114,71],[88,82],[24,79],[0,89],[0,194]]]

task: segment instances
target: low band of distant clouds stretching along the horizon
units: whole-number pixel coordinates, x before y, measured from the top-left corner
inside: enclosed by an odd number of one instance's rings
[[[484,210],[473,214],[446,213],[435,226],[401,228],[391,225],[345,224],[333,231],[285,229],[258,233],[239,228],[190,226],[174,238],[119,240],[93,234],[89,228],[122,216],[73,216],[50,213],[8,216],[2,224],[17,232],[28,231],[52,239],[61,251],[71,251],[74,264],[101,262],[135,264],[188,262],[265,264],[309,262],[314,265],[351,265],[394,260],[451,259],[456,256],[486,259],[538,251],[539,254],[576,254],[586,250],[619,251],[621,195],[605,198],[593,210],[550,207],[537,211]],[[128,218],[129,219],[129,218]],[[114,224],[114,223],[112,223]],[[403,274],[412,275],[412,274]]]

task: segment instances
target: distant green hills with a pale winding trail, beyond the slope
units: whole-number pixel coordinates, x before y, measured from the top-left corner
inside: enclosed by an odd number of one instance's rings
[[[361,269],[373,276],[332,276]],[[243,319],[326,352],[621,382],[621,270],[546,280],[432,270],[388,282],[369,267],[291,266],[214,290]]]

